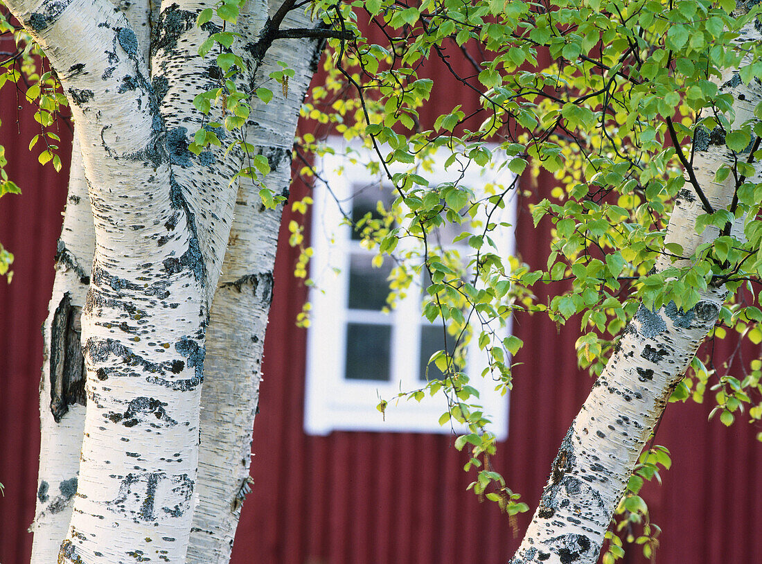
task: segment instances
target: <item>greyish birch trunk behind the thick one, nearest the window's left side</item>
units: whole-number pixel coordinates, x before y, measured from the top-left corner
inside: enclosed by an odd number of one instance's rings
[[[273,14],[282,2],[271,2]],[[303,8],[290,12],[283,29],[309,27]],[[287,195],[296,121],[319,46],[314,40],[276,40],[267,50],[255,84],[275,91],[270,104],[254,101],[246,140],[266,155],[265,184]],[[296,75],[287,98],[267,75],[286,62]],[[199,502],[187,562],[223,564],[230,559],[243,495],[248,491],[251,428],[259,402],[261,361],[282,207],[266,210],[258,187],[242,179],[223,274],[211,310],[201,405]],[[235,351],[235,354],[231,354]],[[252,495],[256,495],[256,492]]]

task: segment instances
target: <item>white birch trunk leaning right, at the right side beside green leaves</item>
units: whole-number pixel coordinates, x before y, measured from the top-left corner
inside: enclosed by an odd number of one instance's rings
[[[758,40],[759,34],[751,26],[746,31]],[[748,36],[744,39],[751,38]],[[737,72],[725,76],[721,90],[735,98],[735,127],[753,117],[754,106],[762,100],[760,85],[742,85]],[[720,165],[733,165],[734,159],[724,140],[712,145],[715,139],[708,133],[696,134],[693,169],[712,208],[721,210],[731,203],[735,180],[729,175],[718,184],[715,172]],[[718,236],[713,227],[696,234],[696,218],[702,213],[696,191],[686,184],[678,194],[666,239],[682,245],[684,256]],[[663,271],[670,265],[670,259],[662,257],[656,268]],[[561,444],[512,564],[597,562],[604,534],[639,453],[696,349],[714,326],[725,296],[724,287],[710,286],[687,312],[674,303],[658,312],[640,307]]]

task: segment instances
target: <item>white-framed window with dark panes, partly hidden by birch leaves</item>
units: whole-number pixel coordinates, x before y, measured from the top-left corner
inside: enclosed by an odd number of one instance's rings
[[[438,165],[443,159],[435,159]],[[336,170],[341,167],[341,174]],[[310,293],[311,323],[307,341],[305,430],[308,434],[331,431],[413,431],[449,433],[450,425],[439,425],[447,409],[443,395],[426,396],[421,402],[401,399],[389,402],[386,413],[376,409],[379,399],[390,400],[400,391],[421,388],[427,377],[441,376],[434,364],[426,370],[431,354],[445,343],[441,325],[432,325],[421,316],[421,295],[413,288],[395,309],[383,312],[389,294],[387,277],[392,261],[386,258],[381,268],[373,268],[376,251],[360,245],[360,236],[346,224],[344,212],[358,220],[376,210],[379,200],[393,200],[379,178],[370,178],[362,165],[328,155],[322,168],[333,194],[316,185],[312,210],[311,277],[319,290]],[[510,175],[509,172],[502,173]],[[431,181],[452,179],[441,166],[429,175]],[[475,166],[466,169],[460,184],[470,187],[495,181],[495,172]],[[502,179],[507,185],[512,178]],[[508,203],[500,220],[514,223],[514,204]],[[445,229],[453,229],[447,227]],[[513,252],[512,229],[498,236],[502,254]],[[511,232],[507,232],[511,231]],[[450,235],[450,240],[452,236]],[[493,237],[494,239],[494,237]],[[465,253],[464,253],[465,254]],[[448,347],[454,338],[448,337]],[[466,351],[466,370],[470,384],[479,389],[479,402],[491,415],[498,438],[507,436],[507,396],[495,392],[495,383],[480,377],[487,357],[472,339]],[[459,428],[455,428],[460,431]]]

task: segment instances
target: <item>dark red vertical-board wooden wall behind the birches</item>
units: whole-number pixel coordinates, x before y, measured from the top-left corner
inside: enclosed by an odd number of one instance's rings
[[[448,82],[436,90],[448,97],[453,91],[456,85]],[[34,120],[3,94],[0,142],[24,194],[0,200],[0,241],[17,257],[13,283],[0,280],[0,562],[24,564],[37,486],[40,325],[53,283],[66,175],[36,165],[27,152]],[[436,111],[434,101],[426,114]],[[304,190],[294,187],[293,193]],[[530,263],[544,264],[546,235],[532,228],[526,213],[520,216],[517,248]],[[452,437],[303,433],[306,335],[294,320],[306,292],[290,276],[295,261],[293,249],[283,245],[254,433],[255,485],[244,505],[233,562],[506,562],[529,516],[518,518],[514,529],[497,508],[465,491],[465,457],[453,448]],[[519,317],[514,332],[525,343],[519,359],[524,364],[511,393],[509,437],[494,463],[534,506],[592,382],[575,368],[576,323],[557,330],[540,316]],[[709,405],[670,405],[658,431],[657,442],[671,449],[674,466],[664,473],[664,485],[648,490],[653,521],[664,530],[655,562],[762,561],[757,429],[743,421],[729,429],[717,420],[707,424],[708,412]],[[626,562],[642,562],[638,554],[633,547]]]

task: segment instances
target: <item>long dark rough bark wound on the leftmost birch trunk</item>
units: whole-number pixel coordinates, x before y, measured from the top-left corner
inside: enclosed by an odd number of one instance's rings
[[[69,411],[69,405],[86,405],[85,358],[79,343],[82,308],[72,306],[66,292],[50,323],[50,412],[56,423]]]

